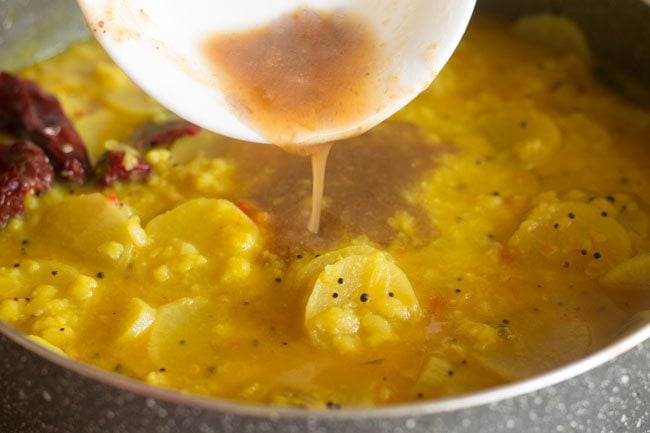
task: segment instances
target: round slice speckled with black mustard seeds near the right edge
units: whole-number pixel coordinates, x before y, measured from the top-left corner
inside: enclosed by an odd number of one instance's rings
[[[627,231],[580,202],[541,203],[508,241],[521,260],[555,263],[598,276],[630,257]]]

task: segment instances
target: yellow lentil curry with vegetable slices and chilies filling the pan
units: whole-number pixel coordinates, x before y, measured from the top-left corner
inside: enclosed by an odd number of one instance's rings
[[[603,347],[650,308],[650,112],[538,25],[475,21],[335,145],[318,235],[308,160],[184,123],[95,43],[0,76],[0,319],[152,385],[321,409]]]

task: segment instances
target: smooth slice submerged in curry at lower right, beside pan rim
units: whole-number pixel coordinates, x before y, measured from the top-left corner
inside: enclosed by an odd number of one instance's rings
[[[549,371],[584,356],[591,333],[581,320],[549,309],[509,316],[504,338],[476,359],[488,370],[508,380],[518,380]],[[507,338],[505,338],[507,337]]]

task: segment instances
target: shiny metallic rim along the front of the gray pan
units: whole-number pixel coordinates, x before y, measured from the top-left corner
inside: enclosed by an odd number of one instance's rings
[[[644,341],[650,340],[650,322],[646,321],[638,326],[638,329],[631,332],[623,331],[621,337],[583,358],[521,381],[428,401],[405,402],[372,407],[344,407],[340,410],[313,410],[262,403],[247,403],[218,397],[182,393],[168,388],[156,387],[144,381],[132,379],[60,355],[30,340],[25,334],[2,321],[0,321],[0,334],[5,335],[9,340],[22,346],[29,352],[36,354],[40,358],[69,370],[72,373],[121,391],[131,392],[140,397],[153,399],[154,401],[158,400],[175,405],[200,408],[214,413],[265,419],[319,418],[346,420],[360,418],[381,419],[389,417],[414,418],[434,415],[496,403],[501,400],[539,391],[593,370],[608,361],[614,360],[616,357],[635,348]]]

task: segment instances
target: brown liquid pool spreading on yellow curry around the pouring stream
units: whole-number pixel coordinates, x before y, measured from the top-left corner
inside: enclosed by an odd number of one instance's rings
[[[441,156],[454,149],[414,125],[395,121],[337,144],[328,157],[327,200],[318,235],[305,230],[313,184],[304,158],[275,146],[226,137],[215,137],[201,152],[237,165],[235,183],[241,190],[231,199],[247,197],[253,208],[268,212],[272,251],[295,258],[296,254],[320,254],[361,236],[388,246],[398,234],[389,224],[398,209],[415,218],[414,246],[435,238],[430,216],[405,191],[429,178],[425,173],[435,170]],[[196,154],[191,141],[177,145],[174,151],[180,162]]]

